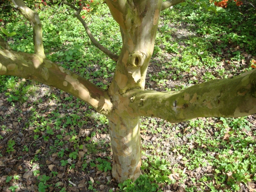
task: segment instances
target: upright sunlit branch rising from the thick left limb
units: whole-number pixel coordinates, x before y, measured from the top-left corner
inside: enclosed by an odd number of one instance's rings
[[[22,0],[12,0],[15,8],[19,9],[20,13],[31,23],[33,27],[33,42],[35,54],[44,55],[44,45],[43,45],[43,33],[42,24],[39,19],[38,13],[32,11],[29,7],[25,5]]]

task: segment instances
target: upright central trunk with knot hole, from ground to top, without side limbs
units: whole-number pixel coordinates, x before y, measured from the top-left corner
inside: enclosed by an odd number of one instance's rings
[[[113,148],[112,176],[117,182],[140,175],[141,152],[139,116],[132,114],[130,98],[123,93],[132,89],[144,90],[148,64],[153,54],[161,0],[106,0],[122,34],[122,50],[116,72],[108,89],[113,103],[107,116]]]

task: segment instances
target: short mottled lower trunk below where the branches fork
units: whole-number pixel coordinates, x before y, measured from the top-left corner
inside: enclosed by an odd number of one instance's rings
[[[113,151],[112,176],[118,182],[140,176],[140,117],[119,116],[113,113],[108,117],[109,134]]]

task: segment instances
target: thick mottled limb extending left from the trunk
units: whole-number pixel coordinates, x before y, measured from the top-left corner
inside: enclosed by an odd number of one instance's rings
[[[0,49],[0,75],[33,79],[64,90],[102,114],[108,114],[112,106],[106,91],[40,55]]]

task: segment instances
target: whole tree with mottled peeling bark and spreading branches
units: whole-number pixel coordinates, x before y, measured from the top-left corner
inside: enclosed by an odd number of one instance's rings
[[[116,72],[108,90],[49,61],[44,54],[42,25],[38,14],[22,0],[12,0],[33,27],[35,53],[15,52],[0,36],[0,75],[32,79],[87,102],[109,121],[113,150],[112,175],[117,182],[135,180],[140,174],[140,116],[182,122],[196,117],[238,117],[256,113],[256,70],[233,79],[216,79],[178,92],[145,90],[145,76],[153,53],[160,12],[182,0],[106,0],[120,26],[122,50],[113,54],[93,38],[75,9],[92,43],[116,61]]]

